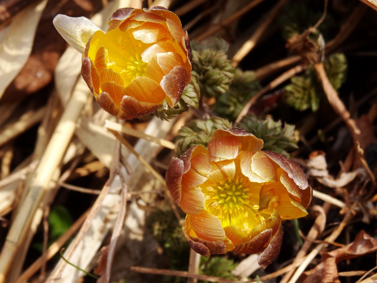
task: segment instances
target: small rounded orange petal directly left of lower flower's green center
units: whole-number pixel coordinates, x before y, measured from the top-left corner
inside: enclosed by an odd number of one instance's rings
[[[204,209],[205,196],[196,189],[183,189],[181,206],[184,213],[187,214],[199,214]]]

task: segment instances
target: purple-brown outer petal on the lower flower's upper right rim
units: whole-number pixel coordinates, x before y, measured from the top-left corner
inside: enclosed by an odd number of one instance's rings
[[[278,153],[272,151],[263,151],[265,154],[268,155],[273,161],[277,163],[285,172],[287,172],[288,176],[293,179],[294,183],[300,187],[300,189],[305,190],[308,188],[308,180],[297,163],[294,161],[280,155]]]

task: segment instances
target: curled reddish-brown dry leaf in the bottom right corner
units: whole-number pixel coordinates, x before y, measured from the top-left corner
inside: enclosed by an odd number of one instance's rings
[[[343,248],[324,253],[319,265],[304,272],[307,277],[303,280],[303,283],[340,283],[337,263],[375,251],[377,251],[377,240],[362,230],[352,243]]]

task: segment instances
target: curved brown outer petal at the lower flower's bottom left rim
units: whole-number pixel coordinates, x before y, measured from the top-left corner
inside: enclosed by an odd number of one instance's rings
[[[205,241],[198,237],[190,236],[192,230],[190,225],[190,215],[187,215],[182,225],[183,235],[189,246],[198,254],[209,257],[210,254],[225,254],[227,248],[223,241]]]

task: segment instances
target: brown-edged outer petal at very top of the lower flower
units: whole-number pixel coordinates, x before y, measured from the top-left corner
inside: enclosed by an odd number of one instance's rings
[[[217,129],[212,134],[212,138],[218,137],[237,137],[241,144],[241,151],[260,151],[263,148],[263,140],[257,138],[255,135],[248,133],[244,129]]]

